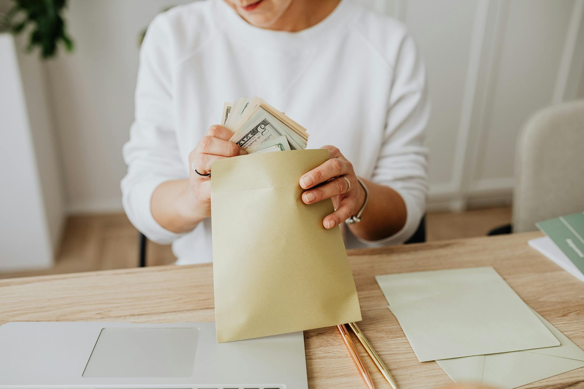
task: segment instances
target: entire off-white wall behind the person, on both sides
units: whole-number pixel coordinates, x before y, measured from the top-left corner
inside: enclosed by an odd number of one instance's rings
[[[431,208],[510,201],[526,117],[584,98],[584,0],[361,0],[403,20],[426,59]],[[48,64],[71,211],[121,209],[137,34],[167,0],[72,0],[74,55]]]

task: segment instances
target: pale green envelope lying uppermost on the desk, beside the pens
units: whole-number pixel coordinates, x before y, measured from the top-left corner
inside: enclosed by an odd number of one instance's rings
[[[420,362],[559,345],[492,267],[376,280]]]

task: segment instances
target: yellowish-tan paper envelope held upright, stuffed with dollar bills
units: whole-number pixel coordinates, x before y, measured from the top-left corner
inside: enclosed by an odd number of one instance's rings
[[[213,162],[211,225],[217,342],[360,321],[331,199],[305,205],[298,181],[328,151],[260,153]]]

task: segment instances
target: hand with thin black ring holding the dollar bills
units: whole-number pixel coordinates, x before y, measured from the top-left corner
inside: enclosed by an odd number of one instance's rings
[[[238,155],[245,155],[244,149],[236,143],[229,142],[233,133],[221,125],[212,125],[207,130],[207,135],[197,143],[197,146],[189,154],[189,190],[187,199],[190,211],[198,218],[211,216],[211,176],[200,176],[211,173],[213,161]],[[194,161],[194,162],[193,162]]]

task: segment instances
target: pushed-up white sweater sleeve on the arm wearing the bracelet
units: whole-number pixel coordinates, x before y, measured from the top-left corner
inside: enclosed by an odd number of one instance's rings
[[[394,66],[387,110],[387,125],[372,181],[401,195],[406,206],[404,227],[375,244],[404,243],[418,228],[426,212],[427,149],[423,146],[430,114],[426,72],[413,38],[405,35]]]

